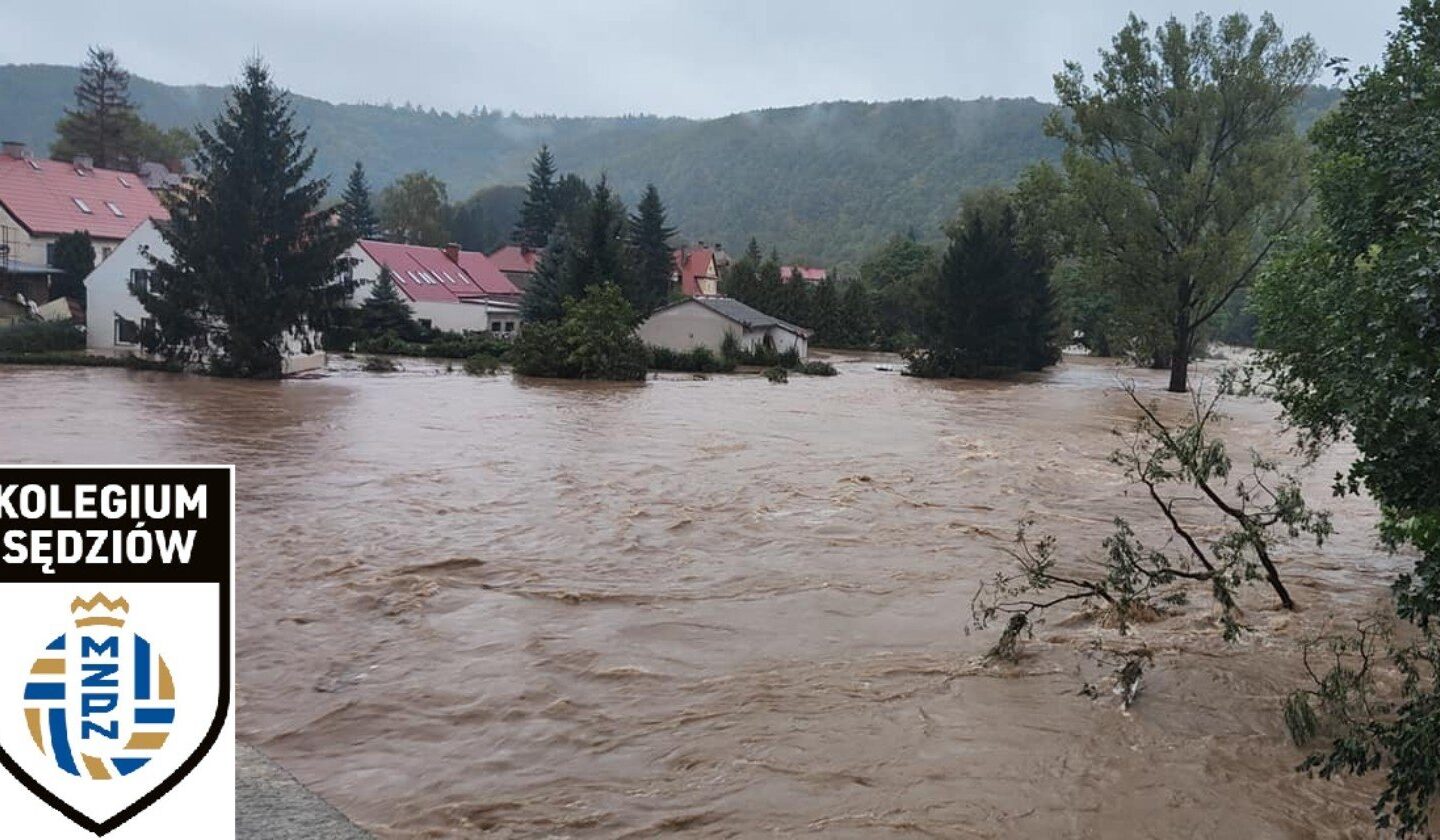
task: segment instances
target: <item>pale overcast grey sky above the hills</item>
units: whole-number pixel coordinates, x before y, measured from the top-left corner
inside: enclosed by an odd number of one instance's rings
[[[1037,97],[1135,10],[1270,10],[1332,56],[1380,58],[1401,0],[68,0],[6,14],[0,63],[228,84],[249,55],[340,102],[713,117],[824,99]]]

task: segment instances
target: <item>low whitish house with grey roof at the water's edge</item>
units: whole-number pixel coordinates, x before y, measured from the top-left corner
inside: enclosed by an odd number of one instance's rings
[[[685,352],[710,347],[716,353],[726,334],[733,334],[744,350],[759,346],[778,353],[793,349],[801,359],[809,352],[811,331],[785,323],[743,303],[719,295],[685,298],[657,310],[639,326],[647,344]]]

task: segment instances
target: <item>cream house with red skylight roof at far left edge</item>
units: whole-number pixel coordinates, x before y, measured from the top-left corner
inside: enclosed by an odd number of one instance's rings
[[[10,259],[52,265],[55,241],[86,231],[101,262],[147,219],[168,218],[137,174],[95,169],[86,157],[39,160],[23,143],[0,150],[0,245]]]

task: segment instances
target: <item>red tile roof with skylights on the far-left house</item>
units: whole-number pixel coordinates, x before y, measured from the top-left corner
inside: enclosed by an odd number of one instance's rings
[[[32,236],[124,239],[145,219],[170,218],[137,174],[33,157],[0,156],[0,206]]]

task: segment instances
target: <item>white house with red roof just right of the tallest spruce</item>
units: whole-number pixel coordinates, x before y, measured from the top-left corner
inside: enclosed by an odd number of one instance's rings
[[[370,297],[382,268],[387,268],[423,326],[495,336],[510,336],[520,326],[520,290],[478,251],[361,239],[348,256],[354,261],[356,305]]]

